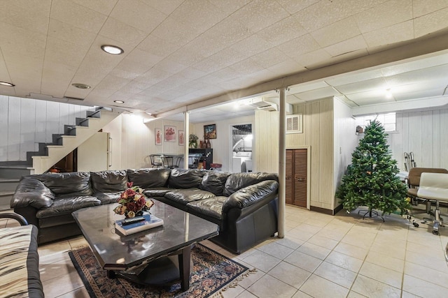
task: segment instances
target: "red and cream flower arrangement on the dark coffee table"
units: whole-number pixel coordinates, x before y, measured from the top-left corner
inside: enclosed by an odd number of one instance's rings
[[[113,209],[116,214],[125,214],[127,218],[141,216],[144,211],[149,211],[154,204],[153,200],[146,200],[142,188],[132,186],[132,184],[133,182],[127,182],[127,189],[118,198],[120,205]]]

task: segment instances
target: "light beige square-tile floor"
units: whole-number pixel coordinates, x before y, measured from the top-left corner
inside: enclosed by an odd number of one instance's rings
[[[385,219],[287,206],[283,239],[273,237],[240,255],[204,244],[258,269],[223,292],[225,298],[448,297],[448,228],[434,235],[430,225],[415,228],[395,214]],[[15,224],[0,221],[0,227]],[[39,247],[45,297],[88,297],[67,253],[85,245],[76,237]]]

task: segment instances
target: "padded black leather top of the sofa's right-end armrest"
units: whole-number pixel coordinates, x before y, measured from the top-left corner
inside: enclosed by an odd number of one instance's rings
[[[249,207],[264,198],[272,196],[276,197],[279,183],[274,180],[266,180],[241,188],[239,191],[232,193],[228,200],[223,204],[223,214],[232,208],[243,209]]]

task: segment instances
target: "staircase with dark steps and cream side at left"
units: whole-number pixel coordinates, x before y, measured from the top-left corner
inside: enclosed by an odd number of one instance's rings
[[[38,151],[27,152],[27,161],[0,163],[0,211],[10,209],[10,199],[22,176],[47,172],[118,115],[120,112],[101,108],[89,111],[85,118],[76,118],[75,126],[64,126],[63,135],[52,135],[51,143],[39,143]]]

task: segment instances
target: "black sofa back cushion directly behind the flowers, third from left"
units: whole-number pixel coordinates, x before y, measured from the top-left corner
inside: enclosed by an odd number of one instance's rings
[[[167,167],[157,169],[127,170],[127,179],[134,182],[134,186],[141,188],[165,187],[171,170]]]

